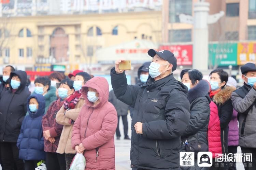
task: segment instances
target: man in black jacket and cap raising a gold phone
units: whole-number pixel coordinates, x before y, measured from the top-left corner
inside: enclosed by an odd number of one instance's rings
[[[121,60],[111,69],[117,99],[134,107],[132,116],[131,168],[179,169],[181,135],[189,124],[187,87],[173,77],[176,58],[168,50],[149,50],[149,74],[142,85],[128,85]],[[154,149],[152,149],[154,148]],[[138,159],[140,158],[140,159]]]

